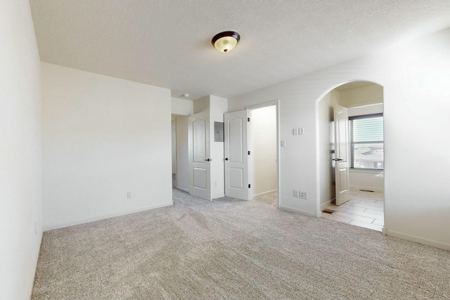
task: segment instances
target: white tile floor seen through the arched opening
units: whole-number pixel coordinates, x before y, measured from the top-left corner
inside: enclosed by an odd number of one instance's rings
[[[384,197],[380,192],[350,190],[350,200],[339,206],[328,205],[326,209],[335,212],[323,212],[322,218],[381,231],[385,224]]]

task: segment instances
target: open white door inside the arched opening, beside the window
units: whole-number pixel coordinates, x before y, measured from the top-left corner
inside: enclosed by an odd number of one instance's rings
[[[349,200],[349,130],[347,108],[335,104],[335,182],[336,205]]]

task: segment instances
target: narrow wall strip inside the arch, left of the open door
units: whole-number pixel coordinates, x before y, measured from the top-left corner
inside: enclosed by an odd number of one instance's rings
[[[327,93],[318,103],[319,122],[319,168],[320,168],[320,203],[323,210],[331,200],[335,199],[335,130],[334,105],[340,103],[340,92],[333,90]]]

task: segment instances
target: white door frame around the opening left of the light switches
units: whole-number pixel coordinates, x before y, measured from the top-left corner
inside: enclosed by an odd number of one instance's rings
[[[276,197],[277,197],[277,207],[280,207],[280,195],[281,195],[281,184],[280,184],[280,100],[273,100],[265,103],[260,103],[257,105],[251,105],[248,107],[245,107],[246,110],[249,110],[250,112],[250,122],[252,122],[252,110],[257,110],[258,108],[268,107],[275,105],[276,107]],[[248,130],[248,144],[252,144],[252,126],[250,124],[249,130]],[[253,155],[250,155],[250,171],[249,171],[249,182],[250,182],[250,200],[253,200],[253,187],[255,186],[255,183],[253,182],[252,178],[252,169],[253,169]]]

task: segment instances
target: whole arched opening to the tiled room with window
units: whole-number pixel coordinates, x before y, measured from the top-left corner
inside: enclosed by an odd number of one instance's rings
[[[319,101],[318,112],[321,216],[382,231],[383,86],[342,84]]]

